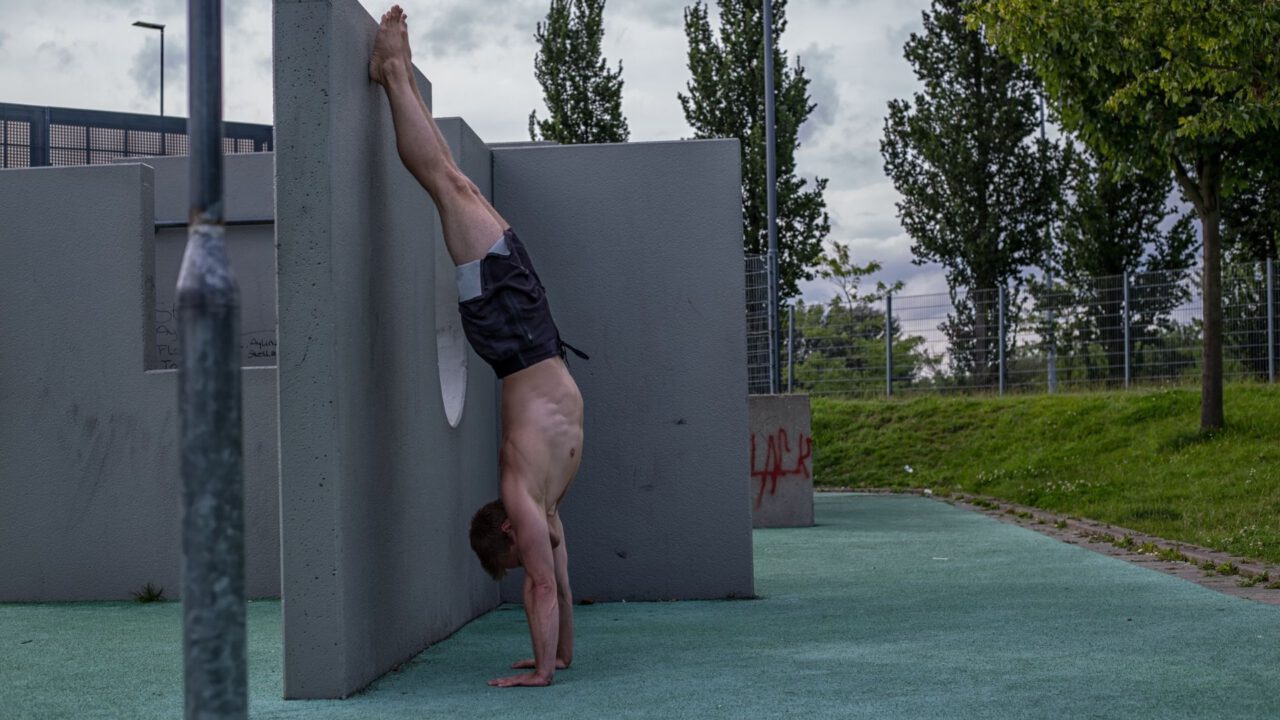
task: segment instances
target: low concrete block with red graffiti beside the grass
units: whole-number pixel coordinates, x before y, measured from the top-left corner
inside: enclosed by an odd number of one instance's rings
[[[813,432],[808,395],[753,395],[751,525],[813,525]]]

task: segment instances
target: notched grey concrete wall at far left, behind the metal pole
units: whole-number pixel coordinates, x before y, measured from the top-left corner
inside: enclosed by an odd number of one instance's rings
[[[0,170],[0,601],[177,597],[177,372],[147,372],[143,165]],[[275,369],[247,369],[246,582],[279,593]]]

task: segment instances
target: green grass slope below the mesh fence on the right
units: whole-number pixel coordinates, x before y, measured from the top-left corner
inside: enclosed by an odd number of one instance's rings
[[[1226,387],[1228,428],[1201,434],[1199,393],[813,398],[828,487],[966,491],[1280,562],[1280,387]]]

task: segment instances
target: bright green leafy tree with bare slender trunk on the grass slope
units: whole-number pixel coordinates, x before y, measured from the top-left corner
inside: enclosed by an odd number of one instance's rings
[[[1222,416],[1222,190],[1280,128],[1280,0],[977,0],[972,22],[1043,79],[1112,167],[1172,172],[1203,238],[1201,429]]]

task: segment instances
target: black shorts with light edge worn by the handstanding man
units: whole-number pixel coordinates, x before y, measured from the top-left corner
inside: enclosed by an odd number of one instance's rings
[[[504,378],[557,355],[568,346],[559,337],[534,263],[516,233],[503,233],[508,254],[480,260],[480,295],[458,302],[471,347]]]

